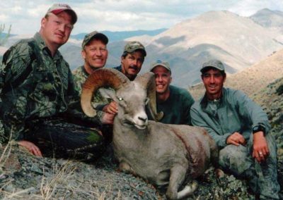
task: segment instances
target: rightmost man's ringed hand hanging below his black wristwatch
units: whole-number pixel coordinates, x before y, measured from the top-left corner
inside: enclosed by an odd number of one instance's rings
[[[270,154],[265,135],[262,131],[253,134],[253,158],[259,163],[264,162]]]

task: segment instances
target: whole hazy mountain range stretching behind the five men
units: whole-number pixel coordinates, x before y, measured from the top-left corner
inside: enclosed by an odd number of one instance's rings
[[[107,68],[120,65],[127,41],[138,40],[147,56],[141,73],[157,59],[171,64],[173,85],[188,88],[200,82],[200,67],[210,58],[221,60],[234,74],[283,49],[283,13],[262,9],[250,17],[229,11],[209,11],[171,28],[136,32],[104,32],[108,35]],[[83,64],[81,42],[85,33],[71,35],[60,48],[71,69]],[[11,37],[7,46],[18,37]],[[0,49],[0,55],[5,48]]]

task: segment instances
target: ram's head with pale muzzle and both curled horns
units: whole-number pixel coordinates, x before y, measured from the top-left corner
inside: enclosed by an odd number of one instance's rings
[[[154,119],[160,120],[163,113],[156,113],[156,93],[153,73],[145,73],[136,80],[128,78],[114,69],[99,69],[91,74],[83,85],[81,106],[86,115],[92,117],[96,111],[91,106],[93,93],[100,87],[112,87],[115,94],[112,99],[117,102],[118,118],[124,124],[144,129],[147,125],[145,105],[149,102],[149,111]],[[150,100],[149,100],[150,99]]]

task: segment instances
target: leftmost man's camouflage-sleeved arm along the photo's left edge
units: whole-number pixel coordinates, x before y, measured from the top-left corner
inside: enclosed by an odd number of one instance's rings
[[[23,139],[28,92],[18,86],[31,73],[30,52],[28,44],[18,44],[8,49],[3,57],[1,118],[6,138],[12,135],[11,139],[16,141]]]

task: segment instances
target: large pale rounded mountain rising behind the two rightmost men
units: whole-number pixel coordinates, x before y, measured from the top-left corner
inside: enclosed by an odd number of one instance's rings
[[[211,11],[153,37],[147,42],[150,54],[146,61],[166,59],[173,67],[173,84],[186,87],[200,81],[198,68],[209,58],[221,59],[227,72],[235,73],[282,49],[274,39],[278,35],[250,18]]]

